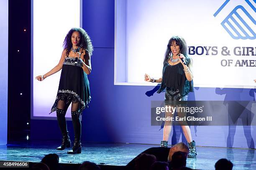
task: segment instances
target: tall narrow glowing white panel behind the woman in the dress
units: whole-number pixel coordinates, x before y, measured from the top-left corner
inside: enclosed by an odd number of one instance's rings
[[[33,1],[33,115],[32,118],[56,117],[49,114],[59,87],[61,71],[37,81],[59,63],[68,31],[80,27],[80,0]],[[70,108],[67,117],[71,117]]]

